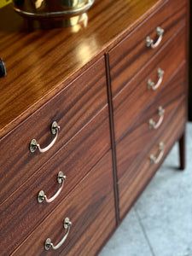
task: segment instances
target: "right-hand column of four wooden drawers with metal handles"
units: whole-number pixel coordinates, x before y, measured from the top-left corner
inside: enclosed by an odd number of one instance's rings
[[[186,33],[186,3],[170,0],[109,52],[119,218],[184,132]]]

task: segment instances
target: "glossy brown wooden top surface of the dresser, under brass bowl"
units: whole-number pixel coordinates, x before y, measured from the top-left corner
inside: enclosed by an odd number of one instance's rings
[[[11,5],[0,9],[0,138],[131,32],[163,0],[96,0],[87,26],[26,32]]]

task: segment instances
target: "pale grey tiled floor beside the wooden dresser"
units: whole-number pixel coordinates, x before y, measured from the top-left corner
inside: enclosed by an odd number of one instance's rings
[[[184,172],[177,156],[176,144],[99,256],[192,256],[192,123]]]

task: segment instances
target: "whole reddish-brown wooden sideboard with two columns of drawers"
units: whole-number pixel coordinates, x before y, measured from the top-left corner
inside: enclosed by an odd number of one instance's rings
[[[177,141],[184,169],[188,10],[96,0],[27,32],[0,9],[1,255],[96,255]]]

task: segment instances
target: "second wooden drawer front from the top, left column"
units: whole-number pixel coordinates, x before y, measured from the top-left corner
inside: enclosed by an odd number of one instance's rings
[[[0,205],[2,219],[0,251],[3,253],[6,250],[7,253],[11,253],[21,241],[26,239],[32,229],[55,209],[86,173],[96,165],[96,162],[102,159],[109,148],[108,108],[104,108],[89,125],[86,125],[77,136]],[[63,172],[66,176],[61,194],[51,203],[45,201],[38,203],[37,197],[40,190],[44,190],[50,198],[61,187],[61,184],[56,181],[58,172]]]

